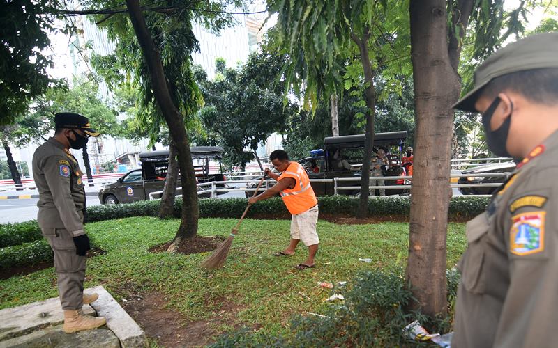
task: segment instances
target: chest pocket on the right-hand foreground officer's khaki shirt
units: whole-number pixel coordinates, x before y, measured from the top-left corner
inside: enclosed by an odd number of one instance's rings
[[[483,272],[483,264],[485,263],[485,238],[488,232],[488,218],[486,214],[476,216],[467,223],[467,251],[458,265],[461,271],[462,283],[465,289],[474,294],[482,294],[485,291],[486,280],[485,272]]]

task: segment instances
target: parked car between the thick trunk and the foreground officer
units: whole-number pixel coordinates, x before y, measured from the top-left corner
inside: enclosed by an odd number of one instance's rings
[[[461,172],[469,176],[460,177],[458,184],[503,184],[508,177],[507,175],[497,177],[483,177],[481,175],[487,173],[513,173],[514,170],[515,163],[513,161],[469,168]],[[491,195],[497,189],[498,187],[460,187],[459,191],[464,195]]]

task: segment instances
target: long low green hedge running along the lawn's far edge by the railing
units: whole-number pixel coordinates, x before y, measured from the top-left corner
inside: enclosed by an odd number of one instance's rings
[[[351,196],[319,197],[320,214],[354,216],[359,206],[359,198]],[[449,216],[469,219],[486,209],[490,198],[458,196],[451,199]],[[87,222],[108,219],[122,219],[130,216],[157,216],[159,200],[144,200],[121,205],[96,205],[87,208]],[[176,200],[174,216],[179,217],[182,201]],[[199,217],[239,218],[246,208],[246,198],[204,198],[199,200]],[[369,216],[409,216],[411,200],[405,196],[370,198]],[[280,198],[271,198],[250,207],[248,217],[252,218],[289,218],[289,212]]]

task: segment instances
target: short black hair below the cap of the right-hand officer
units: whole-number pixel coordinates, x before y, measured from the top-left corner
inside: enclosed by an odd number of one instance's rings
[[[557,105],[558,68],[523,70],[496,77],[483,88],[482,95],[493,99],[506,89],[537,104]]]

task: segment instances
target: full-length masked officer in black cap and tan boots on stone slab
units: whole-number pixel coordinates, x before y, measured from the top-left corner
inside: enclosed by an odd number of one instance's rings
[[[105,318],[82,313],[83,304],[95,301],[98,294],[83,293],[85,255],[90,248],[83,226],[85,190],[83,173],[68,150],[83,148],[89,136],[99,134],[77,113],[56,113],[54,123],[54,136],[33,155],[33,177],[39,191],[37,220],[54,251],[63,331],[73,333],[106,323]]]

